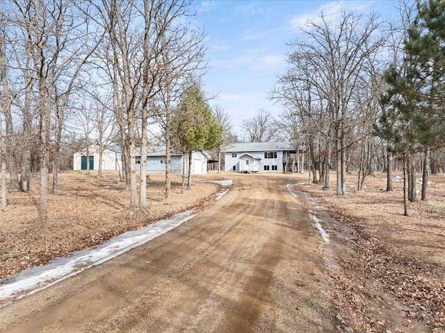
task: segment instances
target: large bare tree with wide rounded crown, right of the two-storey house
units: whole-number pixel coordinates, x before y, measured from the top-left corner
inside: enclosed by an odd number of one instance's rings
[[[327,22],[323,13],[320,23],[308,22],[302,30],[305,40],[290,44],[293,51],[289,55],[289,64],[296,71],[287,80],[286,91],[305,88],[307,101],[311,102],[311,114],[323,112],[328,121],[327,133],[332,137],[335,149],[337,169],[337,194],[346,193],[346,152],[350,142],[348,137],[355,123],[353,112],[356,108],[355,96],[365,83],[364,74],[384,44],[379,35],[381,26],[373,14],[365,19],[353,12],[343,12],[339,24]],[[302,68],[300,64],[305,64]],[[307,82],[305,87],[298,85],[298,80]],[[309,92],[312,96],[309,98]],[[282,97],[281,97],[282,98]],[[312,125],[316,122],[312,122]],[[318,133],[325,135],[325,130]],[[309,140],[309,148],[312,140]],[[330,151],[327,146],[326,151]]]

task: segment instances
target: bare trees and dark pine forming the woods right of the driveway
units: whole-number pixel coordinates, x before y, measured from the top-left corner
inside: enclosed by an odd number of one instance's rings
[[[404,171],[407,200],[416,200],[416,171],[444,171],[445,3],[398,4],[398,19],[323,12],[288,44],[287,69],[270,98],[284,107],[284,136],[309,155],[312,180],[346,193],[346,172],[358,171],[357,189],[376,169]],[[318,164],[316,163],[318,162]],[[420,163],[419,163],[420,162]],[[317,174],[318,169],[318,174]]]

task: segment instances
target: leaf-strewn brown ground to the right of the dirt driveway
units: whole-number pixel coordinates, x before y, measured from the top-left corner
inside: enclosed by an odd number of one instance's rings
[[[403,182],[387,192],[385,173],[368,176],[362,191],[348,174],[345,196],[335,195],[335,177],[327,190],[298,186],[334,218],[322,222],[339,264],[330,268],[334,302],[357,332],[445,332],[445,175],[430,180],[428,201],[418,195],[409,216]]]

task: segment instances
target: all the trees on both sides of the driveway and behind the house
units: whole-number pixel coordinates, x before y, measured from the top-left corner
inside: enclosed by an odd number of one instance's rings
[[[270,99],[283,106],[241,121],[232,133],[227,112],[211,110],[200,78],[205,34],[187,23],[188,0],[6,0],[1,3],[1,204],[9,191],[29,191],[40,176],[40,214],[58,191],[58,170],[75,151],[122,147],[130,210],[147,207],[147,175],[136,150],[165,145],[165,198],[170,152],[215,149],[237,142],[291,141],[307,156],[309,180],[346,193],[346,173],[405,174],[405,214],[428,200],[428,174],[445,171],[445,52],[442,1],[399,4],[398,19],[343,12],[321,15],[289,42],[287,71]],[[156,134],[154,134],[156,133]],[[189,159],[190,160],[190,159]],[[220,160],[220,158],[218,158]],[[191,160],[189,161],[191,163]],[[220,170],[220,163],[218,164]],[[189,164],[189,168],[191,165]],[[87,169],[89,165],[87,166]],[[183,170],[186,170],[184,166]],[[52,184],[49,186],[49,174]],[[99,165],[99,175],[102,173]],[[185,180],[184,175],[184,180]],[[139,179],[139,180],[138,180]],[[191,173],[188,173],[188,188]],[[183,185],[183,187],[185,187]]]

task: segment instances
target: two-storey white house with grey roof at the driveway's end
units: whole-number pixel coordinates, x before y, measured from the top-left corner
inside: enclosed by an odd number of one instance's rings
[[[227,172],[284,172],[295,148],[287,142],[231,144],[223,150]]]

